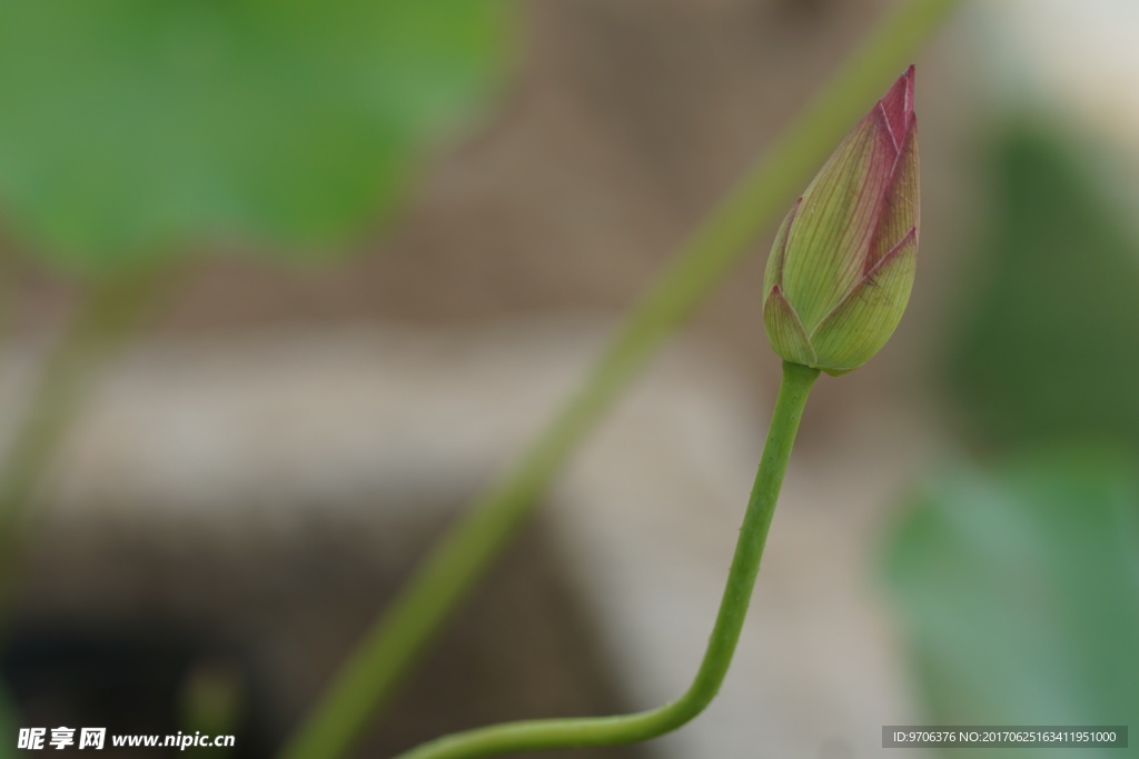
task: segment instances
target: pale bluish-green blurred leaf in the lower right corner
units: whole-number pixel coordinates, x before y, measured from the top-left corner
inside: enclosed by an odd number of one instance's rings
[[[915,496],[886,567],[932,723],[1134,724],[1132,461],[1104,449],[1036,453],[992,471],[961,467]]]

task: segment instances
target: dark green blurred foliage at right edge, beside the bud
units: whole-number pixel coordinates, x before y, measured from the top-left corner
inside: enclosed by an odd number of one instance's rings
[[[944,376],[983,443],[1139,444],[1139,241],[1079,150],[1039,124],[986,163],[986,220]]]

